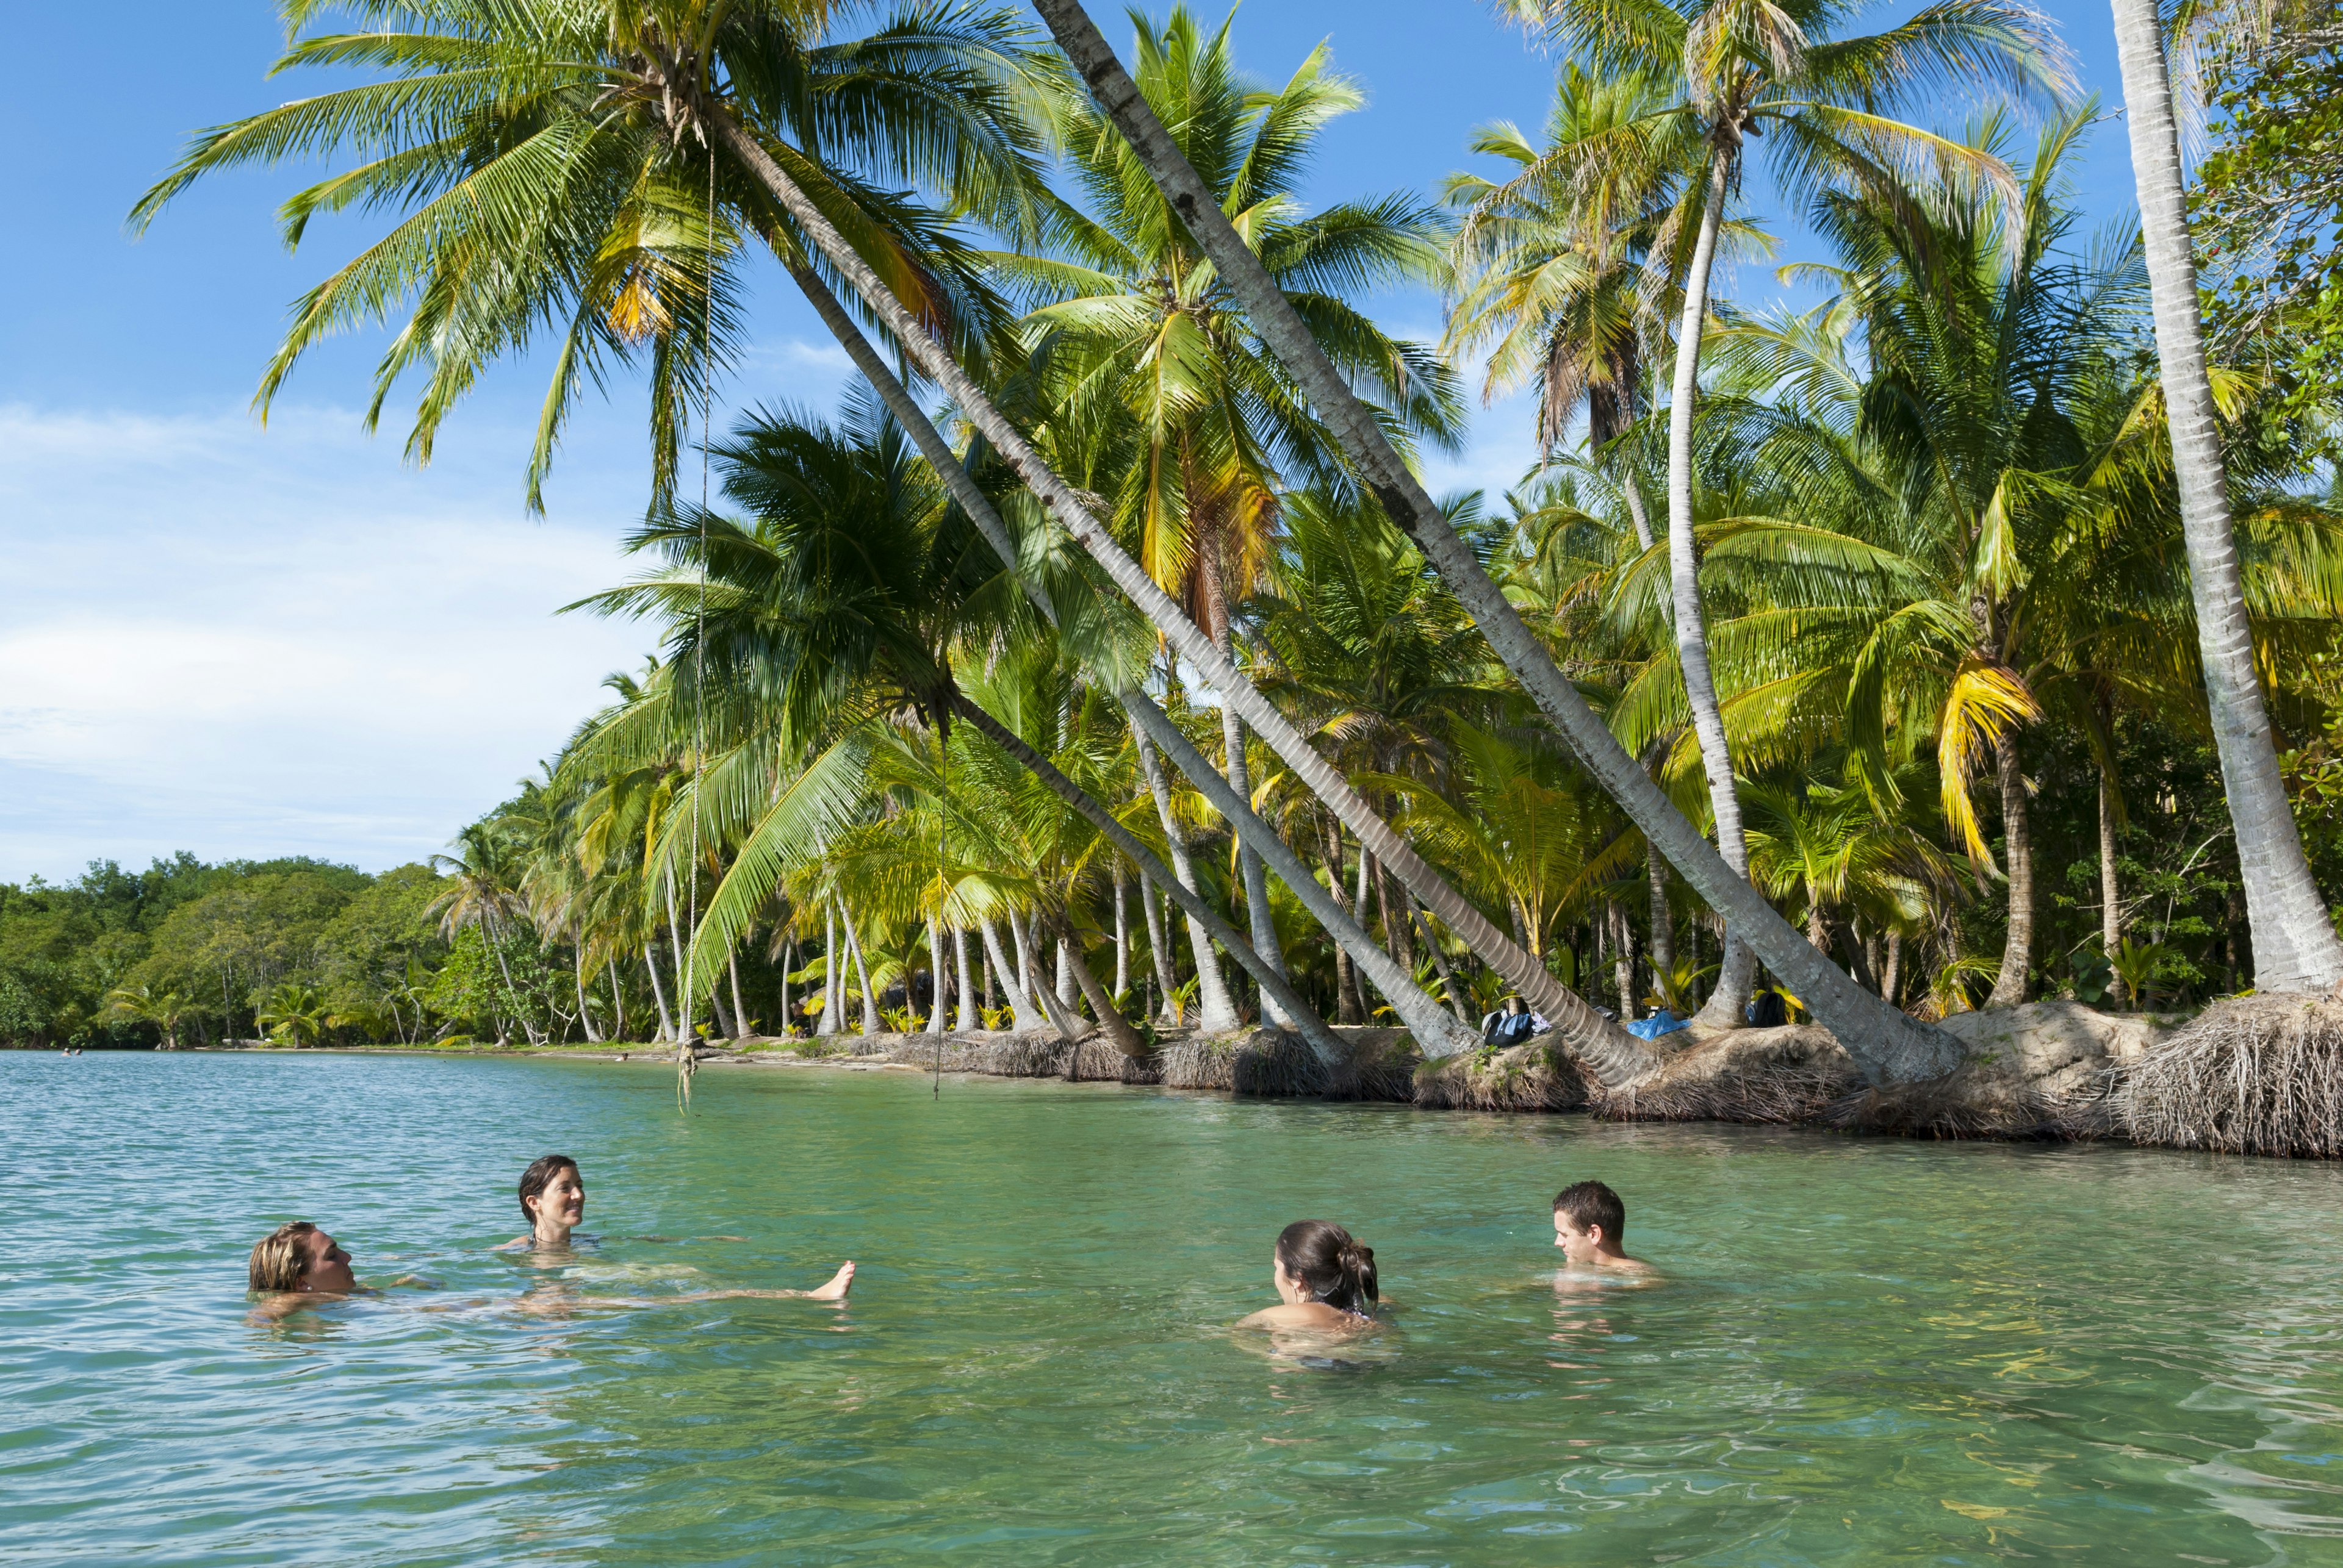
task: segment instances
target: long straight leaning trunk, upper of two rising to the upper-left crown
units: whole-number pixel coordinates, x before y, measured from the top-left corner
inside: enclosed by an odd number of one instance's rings
[[[1396,871],[1399,878],[1425,901],[1425,906],[1448,924],[1448,929],[1462,936],[1476,953],[1483,953],[1495,969],[1523,990],[1523,995],[1528,995],[1535,1004],[1542,1004],[1542,1011],[1553,1020],[1560,1039],[1567,1041],[1605,1084],[1640,1077],[1659,1065],[1659,1058],[1652,1055],[1642,1041],[1577,1002],[1567,990],[1556,985],[1553,978],[1530,960],[1530,955],[1509,945],[1504,936],[1488,924],[1481,913],[1432,866],[1427,866],[1387,821],[1375,817],[1343,772],[1319,756],[1300,730],[1296,730],[1293,723],[1286,721],[1286,716],[1221,655],[1211,639],[1193,620],[1188,620],[1186,613],[1181,613],[1179,604],[1174,604],[1169,594],[1164,594],[1155,578],[1150,578],[1139,562],[1134,562],[1115,543],[1113,534],[1089,515],[1085,501],[1050,470],[1040,454],[1033,452],[1031,442],[1026,442],[1024,433],[993,407],[991,398],[986,398],[968,372],[954,363],[944,346],[935,342],[935,337],[916,318],[911,318],[902,302],[895,300],[895,295],[846,243],[820,208],[815,208],[813,201],[808,201],[806,194],[783,173],[780,164],[776,164],[773,157],[736,119],[731,119],[731,115],[708,110],[705,119],[733,157],[738,157],[759,178],[759,183],[764,183],[764,187],[790,211],[799,229],[804,229],[822,255],[855,286],[855,293],[865,300],[865,304],[869,304],[869,309],[886,321],[888,330],[918,363],[918,367],[944,388],[944,393],[961,407],[961,414],[968,417],[984,440],[1010,461],[1024,484],[1043,498],[1075,543],[1080,543],[1082,550],[1106,569],[1115,587],[1120,587],[1125,597],[1129,597],[1146,613],[1146,618],[1172,641],[1181,658],[1204,674],[1214,690],[1221,693],[1221,700],[1237,709],[1244,723],[1251,725],[1272,751],[1277,751],[1277,756],[1293,770],[1296,779],[1300,779],[1310,793],[1326,800],[1343,824],[1350,826],[1361,843],[1371,845],[1375,857],[1389,864],[1392,871]],[[825,325],[832,328],[848,356],[855,358],[858,367],[862,367],[865,358],[876,358],[867,344],[858,346],[855,339],[860,339],[860,330],[853,328],[853,321],[836,309],[834,300],[829,302],[829,309],[822,309],[822,300],[815,295],[827,295],[827,288],[820,288],[820,278],[804,267],[792,269],[792,274],[797,276],[799,288],[806,290],[808,300],[815,302],[815,309],[822,311]],[[869,372],[865,370],[865,374]],[[888,398],[886,386],[876,377],[874,386],[881,386],[881,398]],[[895,403],[888,400],[888,407],[895,410]],[[902,414],[897,414],[897,419],[902,419]],[[925,424],[925,419],[921,417],[918,424]],[[918,426],[907,421],[907,428],[911,428],[918,440]],[[925,442],[921,442],[921,449],[925,454]],[[935,459],[930,456],[930,461]],[[944,480],[951,484],[949,470],[944,470]],[[958,487],[954,487],[954,496],[958,498]],[[986,508],[986,513],[991,513],[991,508]],[[1448,529],[1448,522],[1441,520],[1439,527],[1448,534],[1450,543],[1455,543],[1455,534]],[[991,531],[986,529],[986,534]],[[996,548],[1005,541],[1007,534],[1003,531],[1003,541],[996,541]],[[1525,630],[1523,637],[1528,637]],[[1556,674],[1556,679],[1560,676]],[[1118,695],[1127,697],[1129,693]],[[1579,707],[1584,709],[1584,702]],[[1589,723],[1596,723],[1591,711],[1586,718]],[[1181,768],[1181,772],[1188,770]],[[1197,784],[1202,786],[1202,779],[1197,779]],[[1251,817],[1249,810],[1244,814]],[[1223,812],[1223,817],[1237,826],[1235,814]],[[1249,838],[1244,826],[1237,831],[1239,840]],[[1251,838],[1258,838],[1261,831],[1265,828],[1256,826]],[[1254,847],[1272,864],[1277,859],[1293,859],[1291,852],[1277,857],[1268,843],[1256,843]],[[1300,887],[1293,892],[1307,899]],[[1432,1016],[1436,1016],[1436,1009],[1432,1009]]]

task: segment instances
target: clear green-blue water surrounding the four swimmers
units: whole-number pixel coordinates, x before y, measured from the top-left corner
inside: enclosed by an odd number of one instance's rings
[[[0,1561],[2343,1563],[2336,1168],[670,1084],[0,1053]],[[604,1238],[565,1287],[853,1257],[853,1304],[499,1306],[548,1149]],[[1666,1285],[1556,1292],[1584,1175]],[[1223,1332],[1305,1215],[1399,1304],[1345,1369]],[[445,1290],[253,1327],[288,1217]]]

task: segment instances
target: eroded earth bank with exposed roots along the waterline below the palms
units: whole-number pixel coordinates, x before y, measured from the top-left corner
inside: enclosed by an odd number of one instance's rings
[[[1071,1084],[1160,1084],[1237,1095],[1375,1100],[1425,1109],[1586,1112],[1605,1121],[1739,1121],[1905,1137],[2109,1140],[2224,1154],[2343,1156],[2343,1074],[2322,1037],[2343,997],[2247,997],[2177,1018],[2102,1013],[2076,1002],[1947,1020],[1968,1060],[1945,1079],[1877,1088],[1823,1027],[1680,1032],[1659,1072],[1603,1088],[1551,1037],[1427,1060],[1406,1030],[1336,1030],[1326,1067],[1293,1034],[1174,1032],[1148,1055],[1104,1034],[829,1034],[703,1044],[701,1065],[925,1070]],[[239,1041],[220,1048],[284,1048]],[[330,1046],[415,1051],[417,1046]],[[433,1053],[642,1060],[675,1046],[419,1046]]]

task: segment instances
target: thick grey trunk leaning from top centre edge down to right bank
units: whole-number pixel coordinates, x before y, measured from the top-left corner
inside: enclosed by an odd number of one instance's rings
[[[1050,23],[1050,33],[1089,87],[1089,94],[1122,131],[1157,190],[1162,190],[1172,211],[1181,215],[1188,232],[1218,269],[1223,283],[1237,295],[1254,330],[1263,335],[1286,370],[1296,374],[1312,407],[1336,433],[1343,452],[1366,480],[1385,515],[1425,552],[1425,559],[1471,613],[1504,667],[1514,672],[1528,688],[1530,700],[1567,737],[1596,784],[1626,810],[1645,838],[1659,845],[1661,854],[1685,873],[1685,880],[1692,882],[1694,892],[1710,908],[1722,910],[1741,927],[1743,938],[1774,967],[1774,974],[1806,999],[1813,1013],[1839,1034],[1839,1041],[1867,1079],[1933,1079],[1956,1067],[1961,1062],[1959,1041],[1886,1006],[1877,995],[1858,988],[1837,964],[1806,948],[1790,922],[1750,887],[1746,875],[1736,873],[1708,845],[1699,828],[1675,810],[1661,789],[1619,747],[1577,686],[1553,662],[1553,655],[1523,625],[1518,611],[1514,611],[1504,592],[1481,569],[1481,562],[1474,559],[1471,548],[1457,538],[1448,517],[1408,470],[1406,461],[1401,461],[1389,438],[1375,424],[1375,414],[1357,398],[1319,349],[1310,328],[1296,314],[1293,302],[1284,297],[1277,281],[1261,264],[1261,257],[1254,255],[1228,222],[1228,215],[1221,213],[1211,199],[1211,190],[1195,176],[1195,169],[1181,157],[1179,145],[1164,133],[1162,122],[1155,119],[1155,110],[1148,108],[1129,73],[1122,70],[1122,63],[1106,44],[1106,37],[1099,35],[1080,0],[1036,0],[1036,9]],[[1282,749],[1279,756],[1284,756]],[[1406,868],[1401,873],[1415,887]],[[1462,924],[1448,920],[1446,908],[1439,908],[1432,899],[1425,899],[1425,903],[1450,929],[1467,936],[1476,953],[1483,950]],[[1556,1013],[1546,1016],[1560,1020]],[[1624,1030],[1619,1034],[1626,1037]],[[1640,1062],[1657,1062],[1649,1051],[1638,1051],[1638,1055]],[[1605,1084],[1617,1081],[1612,1072],[1600,1067],[1598,1072]]]

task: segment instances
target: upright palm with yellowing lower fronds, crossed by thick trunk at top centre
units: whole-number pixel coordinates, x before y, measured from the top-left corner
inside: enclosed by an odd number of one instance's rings
[[[1249,82],[1235,63],[1232,26],[1235,14],[1207,35],[1186,7],[1160,28],[1150,23],[1141,91],[1179,126],[1188,161],[1214,171],[1216,199],[1242,213],[1254,250],[1319,339],[1354,374],[1389,384],[1396,424],[1450,438],[1457,421],[1446,367],[1352,304],[1364,290],[1434,274],[1434,213],[1406,197],[1305,213],[1298,187],[1319,129],[1364,98],[1328,68],[1324,47],[1282,87]],[[1115,522],[1153,578],[1232,655],[1232,604],[1268,562],[1279,491],[1305,475],[1336,475],[1340,449],[1097,108],[1066,94],[1052,131],[1071,152],[1082,211],[1066,215],[1054,255],[1003,253],[996,267],[1038,302],[1024,332],[1054,360],[1052,388],[1064,388],[1052,421],[1104,414],[1134,433],[1115,482]],[[1221,728],[1228,782],[1249,796],[1235,704],[1221,704]],[[1261,854],[1239,845],[1239,871],[1254,948],[1275,962]]]

